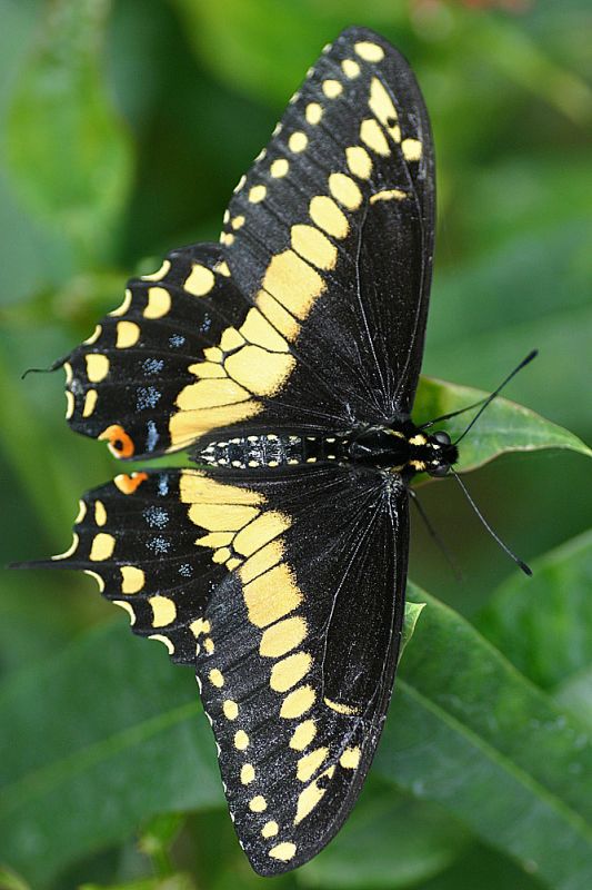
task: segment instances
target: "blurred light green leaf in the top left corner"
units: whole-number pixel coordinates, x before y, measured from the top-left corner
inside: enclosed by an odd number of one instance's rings
[[[9,118],[14,186],[67,234],[81,265],[112,253],[132,172],[131,144],[101,75],[110,8],[110,0],[44,7]]]

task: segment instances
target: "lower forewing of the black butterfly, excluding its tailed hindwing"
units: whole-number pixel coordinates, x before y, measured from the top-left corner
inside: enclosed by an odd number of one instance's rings
[[[274,874],[333,837],[372,760],[401,632],[407,493],[344,467],[251,487],[268,512],[212,593],[197,670],[239,839]]]

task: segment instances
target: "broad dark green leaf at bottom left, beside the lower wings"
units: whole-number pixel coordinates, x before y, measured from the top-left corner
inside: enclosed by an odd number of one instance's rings
[[[0,693],[4,861],[46,887],[153,814],[220,804],[199,711],[192,672],[119,622],[17,675]]]

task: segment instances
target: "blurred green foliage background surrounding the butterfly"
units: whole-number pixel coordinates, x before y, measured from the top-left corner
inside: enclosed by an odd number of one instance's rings
[[[425,373],[490,389],[538,347],[540,358],[512,383],[510,397],[590,442],[589,0],[0,0],[0,14],[4,564],[63,550],[80,493],[117,472],[104,448],[68,431],[61,375],[21,380],[21,373],[48,366],[88,336],[119,305],[127,277],[153,270],[173,247],[217,238],[233,185],[304,71],[352,23],[403,51],[433,122],[439,237]],[[536,564],[553,552],[531,587],[516,582],[455,486],[427,486],[424,508],[463,581],[419,523],[410,575],[454,612],[432,609],[432,636],[429,620],[420,620],[378,767],[351,823],[310,867],[272,883],[592,886],[592,829],[582,828],[592,773],[574,760],[592,724],[589,467],[570,452],[509,455],[469,483],[521,556]],[[22,876],[0,873],[0,888],[269,886],[250,872],[234,840],[213,745],[192,716],[191,678],[169,669],[158,647],[128,639],[124,620],[113,619],[88,578],[4,572],[0,610],[9,784],[0,861]],[[473,655],[449,679],[448,701],[440,681],[459,651],[442,639],[442,663],[437,659],[423,681],[450,725],[432,726],[430,709],[415,725],[407,678],[411,683],[412,666],[422,675],[422,646],[428,661],[449,620],[459,639],[468,634]],[[463,673],[469,663],[472,674]],[[462,701],[461,678],[471,685],[480,665],[496,678],[495,694],[483,675],[471,693],[480,706],[454,712],[452,688]],[[170,720],[161,725],[164,712]],[[503,781],[478,773],[476,754],[463,760],[452,736],[439,741],[444,724],[453,733],[465,718],[462,744],[476,733],[482,754],[491,745],[491,764],[508,768]],[[545,742],[550,726],[570,729],[571,742]],[[129,733],[144,730],[143,753],[132,756]],[[418,739],[424,746],[414,754]],[[546,743],[546,763],[530,774]],[[127,753],[119,758],[119,750]],[[104,772],[93,773],[100,763]],[[530,790],[528,800],[504,784],[510,774]],[[468,790],[474,798],[463,802]],[[495,812],[481,812],[492,794]],[[578,837],[553,827],[543,813],[551,804]],[[509,825],[519,817],[516,838]]]

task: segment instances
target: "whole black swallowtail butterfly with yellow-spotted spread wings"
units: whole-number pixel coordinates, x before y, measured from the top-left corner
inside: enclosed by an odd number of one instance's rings
[[[410,481],[458,458],[411,421],[433,238],[419,87],[349,28],[238,184],[219,244],[132,279],[54,366],[70,426],[116,457],[189,449],[190,467],[88,492],[43,564],[92,575],[194,668],[260,874],[311,859],[360,793],[398,661]]]

